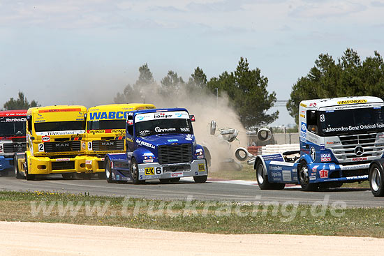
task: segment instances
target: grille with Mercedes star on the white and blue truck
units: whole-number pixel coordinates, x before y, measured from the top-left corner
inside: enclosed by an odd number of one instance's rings
[[[340,162],[346,162],[358,158],[371,160],[380,158],[384,153],[384,142],[376,142],[377,133],[367,133],[360,135],[341,135],[341,144],[329,146],[334,156]],[[362,154],[357,155],[355,149],[362,147]]]

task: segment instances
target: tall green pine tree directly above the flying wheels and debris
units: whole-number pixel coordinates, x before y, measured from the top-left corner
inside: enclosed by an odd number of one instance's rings
[[[276,102],[276,93],[268,93],[267,85],[267,77],[261,75],[259,68],[250,69],[248,60],[244,58],[240,58],[234,72],[224,72],[207,83],[213,93],[217,88],[219,94],[223,91],[228,94],[246,128],[265,126],[279,116],[278,111],[267,114],[267,110]]]

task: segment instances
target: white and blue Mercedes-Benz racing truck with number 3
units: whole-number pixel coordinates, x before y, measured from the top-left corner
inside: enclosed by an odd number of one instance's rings
[[[302,101],[300,151],[257,156],[260,189],[283,189],[291,183],[317,190],[367,180],[371,165],[383,158],[383,107],[376,97]]]

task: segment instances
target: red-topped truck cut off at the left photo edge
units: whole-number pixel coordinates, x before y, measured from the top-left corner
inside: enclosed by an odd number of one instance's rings
[[[27,110],[0,111],[0,175],[13,172],[15,153],[24,152]]]

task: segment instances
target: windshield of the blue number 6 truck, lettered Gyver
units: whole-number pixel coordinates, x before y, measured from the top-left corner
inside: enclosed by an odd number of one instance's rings
[[[186,133],[193,134],[190,119],[158,119],[135,123],[137,137],[154,134]]]

